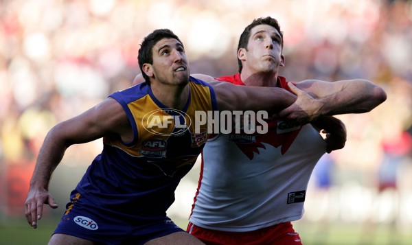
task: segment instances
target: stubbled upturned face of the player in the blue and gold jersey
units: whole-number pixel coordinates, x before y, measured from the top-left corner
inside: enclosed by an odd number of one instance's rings
[[[163,38],[152,47],[153,64],[148,76],[163,84],[187,84],[189,66],[183,45],[174,38]],[[147,73],[146,73],[147,74]]]

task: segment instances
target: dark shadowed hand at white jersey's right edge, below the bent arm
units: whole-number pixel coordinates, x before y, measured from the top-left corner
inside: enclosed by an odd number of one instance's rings
[[[312,122],[312,126],[326,134],[326,152],[330,153],[332,150],[339,150],[345,146],[346,127],[341,120],[329,116],[319,117]]]

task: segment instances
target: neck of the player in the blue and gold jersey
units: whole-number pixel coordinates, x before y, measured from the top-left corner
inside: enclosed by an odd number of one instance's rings
[[[166,107],[177,110],[185,107],[190,92],[189,84],[173,85],[152,82],[150,86],[153,95]]]

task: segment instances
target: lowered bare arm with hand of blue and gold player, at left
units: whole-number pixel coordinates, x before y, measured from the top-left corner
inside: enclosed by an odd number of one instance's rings
[[[25,202],[27,222],[36,228],[37,220],[43,214],[43,204],[48,204],[52,208],[57,207],[48,191],[49,181],[70,145],[114,134],[128,140],[131,136],[129,130],[130,124],[126,113],[122,106],[111,98],[77,117],[54,126],[41,147],[30,181],[30,190]]]

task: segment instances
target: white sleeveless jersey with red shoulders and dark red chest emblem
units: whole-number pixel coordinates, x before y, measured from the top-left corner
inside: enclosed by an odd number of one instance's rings
[[[240,74],[218,80],[244,85]],[[285,78],[278,86],[288,89]],[[208,139],[190,222],[220,231],[254,231],[299,220],[314,165],[325,153],[310,124],[268,121],[264,135]]]

